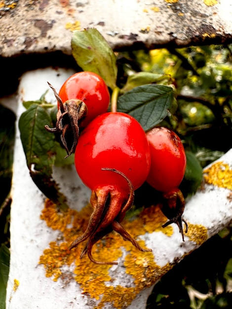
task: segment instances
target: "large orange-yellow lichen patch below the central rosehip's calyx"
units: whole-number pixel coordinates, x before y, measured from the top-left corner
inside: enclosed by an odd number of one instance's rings
[[[80,243],[71,251],[68,250],[71,242],[86,230],[91,213],[92,207],[89,204],[80,212],[71,209],[61,212],[47,199],[41,219],[45,220],[51,229],[59,230],[61,233],[56,241],[51,242],[49,248],[43,251],[39,264],[43,264],[46,276],[52,277],[54,281],[60,278],[67,283],[72,278],[75,279],[85,295],[100,300],[99,309],[103,308],[106,302],[112,303],[116,309],[128,306],[142,289],[154,284],[162,273],[170,269],[170,266],[166,265],[161,269],[154,262],[153,252],[141,252],[129,241],[122,241],[118,233],[111,232],[93,246],[92,255],[98,261],[112,262],[121,257],[124,247],[127,252],[124,261],[125,272],[126,275],[132,276],[135,287],[113,286],[114,279],[110,275],[112,265],[94,264],[87,256],[79,258],[85,243]],[[162,231],[167,235],[173,233],[171,226],[161,228],[166,220],[156,205],[144,208],[134,220],[124,220],[122,226],[145,248],[146,245],[138,238],[139,235],[155,231]],[[67,266],[70,267],[71,264],[72,267],[75,266],[74,270],[68,271],[67,280],[65,273]]]

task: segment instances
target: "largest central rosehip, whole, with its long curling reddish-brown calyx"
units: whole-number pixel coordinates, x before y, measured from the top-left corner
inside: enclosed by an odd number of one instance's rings
[[[88,239],[81,256],[91,255],[93,244],[115,230],[143,249],[120,225],[133,202],[134,189],[146,180],[150,169],[150,148],[139,122],[123,113],[105,113],[96,117],[80,134],[75,153],[77,173],[92,190],[93,213],[86,232],[71,244],[70,249]]]

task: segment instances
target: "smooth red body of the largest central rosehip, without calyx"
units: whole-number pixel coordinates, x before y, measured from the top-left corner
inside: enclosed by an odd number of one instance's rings
[[[132,116],[105,113],[94,119],[80,135],[75,164],[79,177],[91,190],[119,183],[128,191],[127,183],[119,175],[102,172],[102,167],[124,173],[135,190],[144,183],[150,168],[146,134]]]

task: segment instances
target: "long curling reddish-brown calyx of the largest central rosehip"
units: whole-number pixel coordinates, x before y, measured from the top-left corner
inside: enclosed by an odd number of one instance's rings
[[[112,231],[118,232],[124,240],[129,240],[141,251],[152,251],[152,249],[142,248],[120,224],[125,217],[126,211],[131,208],[134,200],[134,190],[131,181],[116,169],[102,168],[102,170],[112,171],[124,177],[129,186],[129,197],[125,197],[125,194],[123,195],[113,186],[104,186],[93,191],[90,202],[94,210],[89,219],[88,227],[81,236],[72,242],[69,249],[71,250],[80,242],[88,239],[80,254],[80,259],[87,254],[89,259],[96,264],[117,264],[117,262],[96,261],[92,256],[93,245]]]

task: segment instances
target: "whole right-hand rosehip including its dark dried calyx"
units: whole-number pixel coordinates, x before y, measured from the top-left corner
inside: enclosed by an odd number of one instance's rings
[[[161,210],[169,219],[163,227],[176,223],[184,240],[182,215],[185,209],[185,199],[179,190],[186,169],[186,154],[181,139],[172,130],[165,127],[155,127],[147,132],[151,150],[151,168],[147,182],[156,190],[162,192]]]

